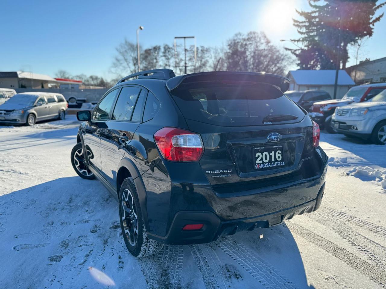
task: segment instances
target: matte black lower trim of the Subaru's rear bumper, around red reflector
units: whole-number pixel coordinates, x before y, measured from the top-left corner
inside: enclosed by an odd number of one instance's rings
[[[250,218],[222,221],[218,215],[210,211],[181,211],[174,216],[169,232],[165,237],[153,234],[149,234],[149,237],[165,244],[202,244],[215,241],[222,235],[234,235],[240,231],[252,231],[255,228],[280,225],[284,220],[289,220],[296,215],[316,211],[322,202],[324,188],[325,184],[322,185],[314,200],[285,210]],[[182,230],[186,224],[193,223],[204,224],[204,226],[200,230]]]

